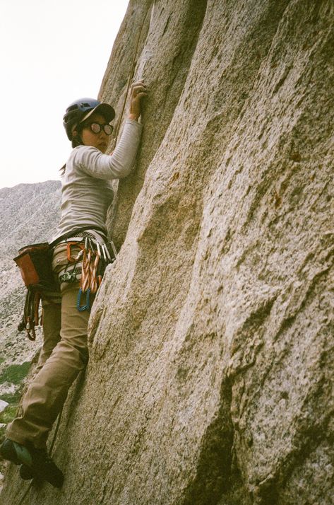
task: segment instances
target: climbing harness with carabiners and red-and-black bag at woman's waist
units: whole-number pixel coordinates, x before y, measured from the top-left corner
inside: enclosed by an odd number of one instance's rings
[[[20,268],[21,277],[27,288],[18,331],[25,330],[30,340],[36,339],[35,327],[42,325],[42,313],[40,314],[42,300],[52,304],[61,303],[59,284],[79,282],[77,308],[80,312],[90,310],[91,298],[100,287],[107,265],[116,259],[117,251],[112,240],[107,243],[99,242],[97,235],[85,231],[90,229],[92,232],[91,227],[84,228],[80,233],[71,232],[67,234],[67,238],[61,237],[61,240],[56,240],[56,244],[66,244],[67,258],[67,264],[59,272],[58,279],[55,279],[52,272],[54,247],[48,243],[26,245],[13,259]]]

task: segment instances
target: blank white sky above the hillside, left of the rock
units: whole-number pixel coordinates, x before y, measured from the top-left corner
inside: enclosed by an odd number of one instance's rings
[[[129,0],[0,0],[0,188],[59,179],[62,117],[97,98]]]

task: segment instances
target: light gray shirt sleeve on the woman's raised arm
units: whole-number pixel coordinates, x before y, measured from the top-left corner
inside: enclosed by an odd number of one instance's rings
[[[92,146],[82,146],[76,153],[75,163],[83,172],[97,179],[121,179],[129,175],[136,161],[136,153],[143,125],[126,120],[121,139],[112,155],[103,154]]]

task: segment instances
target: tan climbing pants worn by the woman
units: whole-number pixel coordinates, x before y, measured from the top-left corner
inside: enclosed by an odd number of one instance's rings
[[[54,250],[54,272],[64,267],[64,245]],[[6,437],[44,448],[68,389],[88,361],[87,327],[90,313],[79,312],[79,284],[61,284],[61,304],[43,305],[44,344],[37,375],[23,397],[22,414],[7,426]]]

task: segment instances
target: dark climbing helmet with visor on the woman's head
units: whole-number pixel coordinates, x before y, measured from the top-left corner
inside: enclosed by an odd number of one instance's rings
[[[93,112],[100,112],[107,122],[112,121],[115,117],[115,111],[109,103],[101,103],[94,98],[80,98],[68,105],[63,117],[63,124],[69,140],[73,141],[73,127],[87,119]]]

